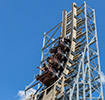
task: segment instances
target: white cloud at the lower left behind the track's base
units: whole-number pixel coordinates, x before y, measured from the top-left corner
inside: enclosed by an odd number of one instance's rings
[[[34,94],[35,93],[35,89],[31,88],[30,90],[28,90],[26,92],[26,97],[30,96],[32,93]],[[18,91],[18,96],[19,96],[19,100],[24,100],[25,99],[25,92],[24,90],[20,90]]]

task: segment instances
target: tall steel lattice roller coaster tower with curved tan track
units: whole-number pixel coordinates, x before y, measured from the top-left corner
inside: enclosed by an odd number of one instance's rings
[[[25,92],[37,85],[38,89],[25,100],[104,100],[95,10],[86,2],[79,7],[73,3],[72,10],[64,10],[62,16],[62,22],[44,33],[40,68],[59,37],[65,37],[71,40],[71,46],[64,70],[49,87],[35,79]]]

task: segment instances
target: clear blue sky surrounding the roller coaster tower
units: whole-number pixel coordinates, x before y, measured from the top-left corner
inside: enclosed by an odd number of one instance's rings
[[[62,10],[83,0],[0,0],[0,99],[19,100],[38,73],[43,32],[62,19]],[[105,0],[87,0],[96,10],[101,69],[105,73]],[[105,93],[105,86],[104,86]]]

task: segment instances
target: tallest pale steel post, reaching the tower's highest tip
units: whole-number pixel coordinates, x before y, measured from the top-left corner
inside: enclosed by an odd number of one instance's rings
[[[84,2],[85,8],[85,29],[86,29],[86,42],[87,42],[87,60],[88,60],[88,74],[89,74],[89,94],[90,100],[92,100],[92,88],[91,88],[91,74],[90,74],[90,59],[89,59],[89,45],[88,45],[88,27],[87,27],[87,10],[86,10],[86,2]]]

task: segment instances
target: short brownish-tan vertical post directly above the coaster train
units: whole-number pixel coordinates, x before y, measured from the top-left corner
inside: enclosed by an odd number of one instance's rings
[[[66,23],[67,23],[67,11],[64,10],[62,13],[62,32],[61,32],[61,37],[66,36]]]

